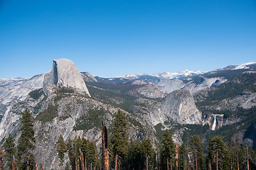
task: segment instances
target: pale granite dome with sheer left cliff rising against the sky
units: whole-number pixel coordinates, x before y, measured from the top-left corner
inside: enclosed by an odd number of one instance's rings
[[[45,74],[43,80],[43,90],[46,94],[49,93],[49,87],[53,84],[56,86],[72,87],[90,96],[81,73],[75,67],[75,64],[68,59],[53,60],[53,69]]]

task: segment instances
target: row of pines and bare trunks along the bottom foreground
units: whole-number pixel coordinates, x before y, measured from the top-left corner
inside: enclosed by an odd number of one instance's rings
[[[190,141],[178,146],[172,140],[169,130],[162,133],[161,140],[153,147],[149,137],[140,141],[129,140],[129,123],[122,111],[117,111],[114,117],[110,135],[111,169],[256,169],[256,152],[252,147],[236,143],[228,146],[222,137],[217,136],[210,138],[204,151],[198,135],[193,135]],[[33,156],[36,141],[33,118],[28,109],[23,111],[20,120],[21,135],[17,146],[14,137],[9,135],[3,145],[4,152],[0,149],[0,169],[38,169]],[[101,154],[95,142],[84,137],[65,141],[60,134],[55,148],[60,169],[92,170],[102,167]]]

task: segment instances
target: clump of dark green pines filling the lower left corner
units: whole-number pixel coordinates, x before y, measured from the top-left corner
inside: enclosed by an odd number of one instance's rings
[[[9,135],[4,142],[4,159],[0,159],[0,169],[34,169],[36,166],[33,149],[35,149],[36,138],[34,137],[34,120],[30,111],[26,108],[20,118],[21,135],[18,144],[15,145],[14,137]],[[4,162],[3,162],[4,160]],[[3,167],[3,165],[5,166]]]

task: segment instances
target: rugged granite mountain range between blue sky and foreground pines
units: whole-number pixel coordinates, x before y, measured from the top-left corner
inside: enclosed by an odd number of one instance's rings
[[[58,79],[54,81],[54,74],[49,72],[46,73],[50,79],[46,83],[47,90],[43,89],[46,74],[29,79],[0,79],[1,143],[9,134],[17,139],[20,125],[18,118],[25,108],[28,108],[36,119],[36,162],[43,159],[46,169],[58,167],[54,144],[59,132],[62,132],[65,141],[73,139],[75,135],[89,137],[100,147],[99,123],[103,120],[107,128],[111,128],[117,109],[124,111],[129,120],[129,138],[142,140],[147,136],[151,138],[153,145],[156,145],[161,137],[161,131],[166,129],[174,132],[174,141],[179,145],[184,139],[189,139],[193,128],[198,128],[199,135],[204,134],[203,140],[208,140],[207,137],[212,134],[219,134],[223,127],[229,125],[237,127],[244,135],[249,127],[247,124],[250,123],[247,118],[252,117],[253,120],[255,114],[253,107],[256,106],[256,91],[251,87],[255,83],[256,63],[244,65],[245,67],[239,67],[240,69],[229,67],[184,79],[160,79],[143,75],[143,79],[131,80],[92,77],[90,73],[79,72],[78,79],[83,79],[90,96],[86,92],[81,93],[75,85],[65,84],[65,81],[58,84]],[[53,70],[54,63],[50,72]],[[58,78],[67,78],[66,76]],[[225,90],[228,84],[230,87],[240,84],[241,92],[234,94],[232,98],[219,96],[218,100],[216,96],[211,95]],[[242,101],[246,101],[246,107],[238,110],[234,103]],[[228,110],[216,110],[216,105]],[[214,117],[216,128],[211,130]],[[243,125],[240,125],[241,122]],[[226,137],[230,139],[235,132],[224,135],[230,135]],[[250,135],[246,134],[243,140]],[[255,143],[252,140],[253,146]]]

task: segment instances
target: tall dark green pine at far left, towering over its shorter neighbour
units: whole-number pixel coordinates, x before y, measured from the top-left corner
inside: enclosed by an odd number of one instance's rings
[[[32,154],[35,149],[36,139],[34,137],[33,123],[34,120],[28,108],[23,111],[20,118],[21,121],[21,136],[18,138],[17,159],[18,169],[33,169],[35,166],[35,157]]]

